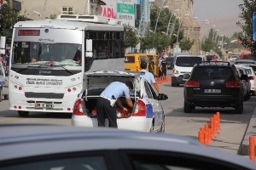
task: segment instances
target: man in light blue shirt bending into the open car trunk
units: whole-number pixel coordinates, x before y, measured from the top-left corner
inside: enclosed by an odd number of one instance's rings
[[[105,127],[105,118],[108,117],[109,127],[117,126],[117,114],[116,104],[124,111],[127,110],[122,105],[121,96],[125,95],[126,103],[129,107],[133,107],[130,90],[133,89],[131,81],[123,82],[111,82],[107,88],[102,92],[100,97],[97,99],[96,111],[97,121],[99,127]]]

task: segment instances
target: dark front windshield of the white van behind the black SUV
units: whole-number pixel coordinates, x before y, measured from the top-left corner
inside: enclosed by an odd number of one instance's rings
[[[193,67],[195,64],[201,61],[202,61],[201,57],[193,57],[193,56],[184,57],[183,56],[183,57],[176,58],[175,65],[184,66],[184,67]]]

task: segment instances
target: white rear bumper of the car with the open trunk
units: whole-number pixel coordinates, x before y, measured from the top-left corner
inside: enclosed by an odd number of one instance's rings
[[[72,116],[72,125],[75,127],[98,127],[96,118],[90,118],[88,116]],[[134,130],[141,132],[149,132],[152,119],[145,117],[129,117],[118,118],[118,128],[125,130]],[[105,120],[105,126],[108,127],[108,119]]]

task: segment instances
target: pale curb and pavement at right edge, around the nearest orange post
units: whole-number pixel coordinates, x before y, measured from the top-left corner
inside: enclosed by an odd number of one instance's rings
[[[256,107],[254,107],[252,118],[247,126],[247,131],[244,135],[243,141],[241,143],[241,155],[249,156],[250,148],[249,148],[249,137],[256,136]],[[254,142],[254,153],[256,153],[256,147]]]

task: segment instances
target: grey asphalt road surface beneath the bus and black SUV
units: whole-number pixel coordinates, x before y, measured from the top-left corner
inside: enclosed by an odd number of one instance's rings
[[[170,73],[171,71],[168,71]],[[166,133],[175,133],[198,140],[200,127],[220,112],[219,133],[215,135],[210,146],[230,153],[241,155],[241,142],[251,119],[256,97],[244,102],[243,114],[235,114],[233,108],[195,108],[192,113],[183,112],[183,86],[171,87],[171,82],[160,85],[160,91],[169,99],[161,101],[166,113]],[[28,117],[19,117],[17,111],[9,111],[9,101],[0,102],[0,124],[3,123],[50,123],[71,126],[71,114],[32,112]]]

